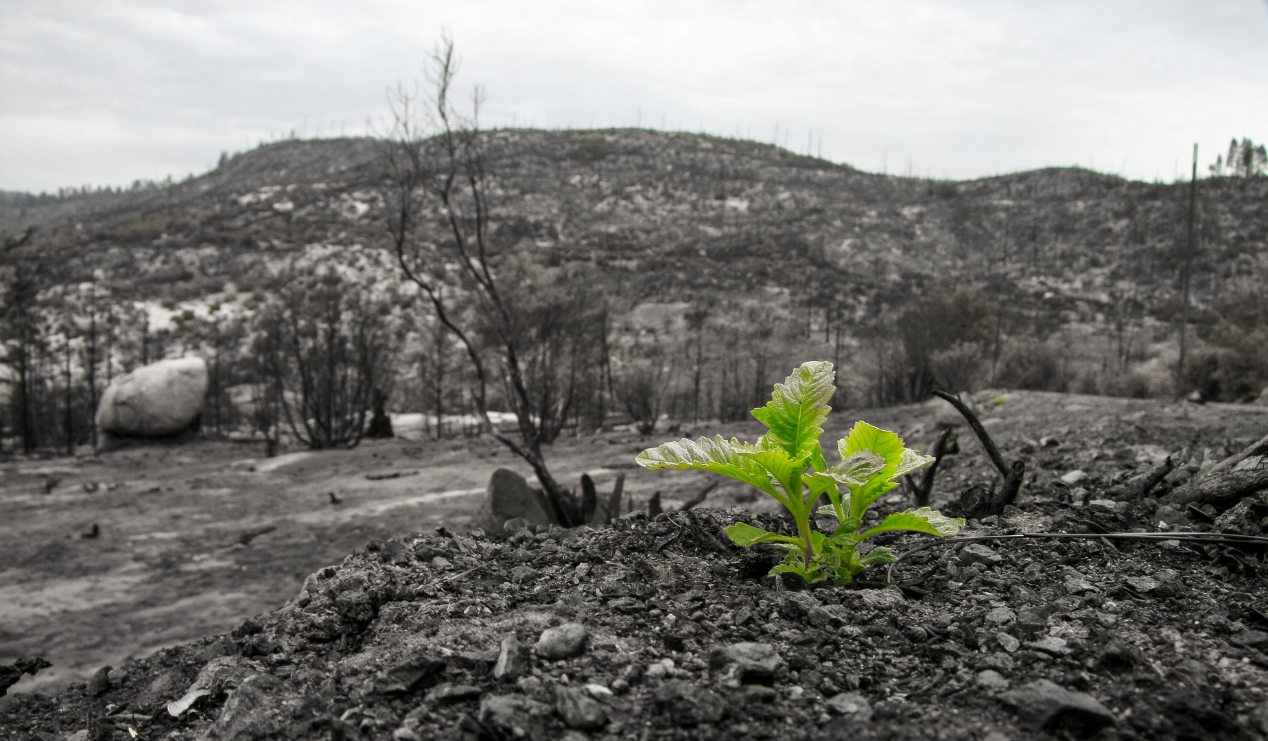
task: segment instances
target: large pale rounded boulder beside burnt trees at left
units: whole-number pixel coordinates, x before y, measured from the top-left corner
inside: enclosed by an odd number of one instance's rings
[[[205,397],[205,360],[160,360],[110,382],[96,407],[96,426],[119,438],[174,435],[198,420]]]

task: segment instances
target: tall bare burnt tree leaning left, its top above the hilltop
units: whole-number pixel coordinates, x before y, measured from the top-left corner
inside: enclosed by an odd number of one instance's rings
[[[476,89],[469,117],[453,105],[458,61],[449,36],[441,37],[429,62],[430,99],[420,99],[403,85],[389,94],[393,124],[385,137],[384,198],[397,263],[404,278],[430,301],[436,320],[467,350],[476,370],[472,396],[484,429],[529,463],[554,518],[563,525],[579,525],[583,520],[576,497],[555,482],[541,454],[549,429],[543,428],[547,420],[535,414],[539,405],[521,365],[520,322],[492,264],[488,138],[479,129],[483,93]],[[472,288],[497,338],[517,439],[489,419],[491,378],[477,341],[478,326],[455,311],[451,302],[463,282]]]

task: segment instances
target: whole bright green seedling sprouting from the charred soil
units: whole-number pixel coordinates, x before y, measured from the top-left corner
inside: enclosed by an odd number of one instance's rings
[[[862,530],[867,508],[898,486],[899,478],[933,463],[933,458],[904,448],[896,434],[860,421],[837,443],[841,463],[828,467],[819,435],[832,411],[828,400],[836,392],[834,379],[832,363],[812,360],[784,383],[776,383],[770,403],[753,410],[753,416],[768,428],[757,443],[725,440],[721,435],[683,438],[648,448],[635,461],[644,468],[713,471],[773,496],[796,520],[798,537],[768,533],[746,523],[727,528],[727,535],[738,546],[771,542],[789,551],[771,576],[796,574],[809,582],[832,580],[844,586],[867,565],[895,561],[884,546],[860,557],[856,547],[872,535],[891,530],[959,533],[962,519],[943,516],[929,508],[894,513]],[[810,527],[812,510],[823,495],[832,504],[820,506],[817,514],[831,515],[838,523],[831,535]]]

